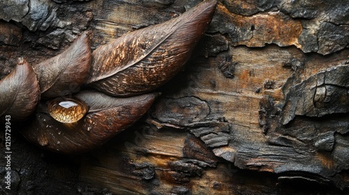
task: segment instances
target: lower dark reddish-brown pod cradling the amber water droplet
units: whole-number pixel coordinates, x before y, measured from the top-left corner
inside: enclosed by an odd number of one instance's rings
[[[101,146],[125,130],[147,112],[157,93],[132,98],[112,98],[98,92],[84,91],[75,97],[86,102],[90,109],[75,123],[60,123],[47,114],[46,104],[22,134],[32,143],[58,153],[83,153]]]

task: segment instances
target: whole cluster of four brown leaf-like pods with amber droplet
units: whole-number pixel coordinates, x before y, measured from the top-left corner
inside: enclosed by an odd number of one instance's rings
[[[93,53],[89,33],[83,33],[65,52],[33,68],[20,59],[0,81],[0,117],[32,116],[22,134],[47,150],[82,153],[101,146],[147,112],[159,95],[149,92],[186,63],[216,3],[204,1],[177,18],[127,33]],[[83,84],[100,92],[66,97],[72,85]]]

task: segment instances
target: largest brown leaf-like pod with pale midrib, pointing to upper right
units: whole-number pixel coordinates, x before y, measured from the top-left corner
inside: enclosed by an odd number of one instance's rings
[[[204,1],[183,15],[133,31],[98,47],[87,84],[103,93],[147,93],[171,79],[205,33],[217,1]]]

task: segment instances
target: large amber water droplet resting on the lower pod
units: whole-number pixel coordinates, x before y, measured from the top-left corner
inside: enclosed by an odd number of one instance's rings
[[[74,123],[87,113],[89,105],[77,98],[56,98],[48,102],[47,110],[61,123]]]

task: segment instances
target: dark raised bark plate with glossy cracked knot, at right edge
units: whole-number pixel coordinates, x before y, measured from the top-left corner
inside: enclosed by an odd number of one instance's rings
[[[349,65],[339,65],[320,71],[291,88],[284,88],[281,123],[286,125],[296,115],[321,117],[347,113],[348,74]]]

